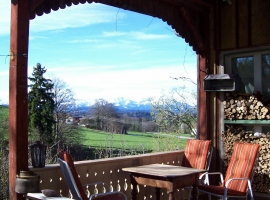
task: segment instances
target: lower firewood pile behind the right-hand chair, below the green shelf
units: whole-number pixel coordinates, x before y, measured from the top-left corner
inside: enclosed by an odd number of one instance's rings
[[[245,131],[240,126],[227,126],[222,132],[224,142],[224,172],[228,167],[235,141],[260,144],[258,166],[255,170],[252,189],[254,192],[270,193],[270,136],[255,137],[253,132]]]

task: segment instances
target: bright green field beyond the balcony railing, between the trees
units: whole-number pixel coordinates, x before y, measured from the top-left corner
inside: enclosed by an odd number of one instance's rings
[[[128,131],[127,135],[123,135],[123,134],[111,134],[87,128],[82,128],[81,133],[83,134],[84,138],[83,145],[89,147],[94,148],[113,147],[113,148],[137,149],[137,150],[144,149],[150,151],[154,149],[154,145],[156,145],[155,140],[157,137],[157,134],[155,133],[141,133]],[[184,138],[178,139],[170,137],[170,140],[174,140],[174,142],[179,142],[179,146],[182,148],[185,146],[186,143],[186,139]]]

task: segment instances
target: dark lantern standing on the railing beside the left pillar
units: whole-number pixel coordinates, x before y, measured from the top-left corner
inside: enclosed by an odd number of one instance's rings
[[[32,166],[35,168],[44,167],[46,159],[46,146],[41,144],[40,141],[36,141],[30,146]]]

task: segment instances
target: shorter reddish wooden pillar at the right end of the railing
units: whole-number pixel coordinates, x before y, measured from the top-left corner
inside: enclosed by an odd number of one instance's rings
[[[198,55],[198,80],[197,80],[197,104],[198,104],[198,138],[202,140],[210,139],[209,133],[209,93],[203,89],[203,81],[207,74],[207,59]]]

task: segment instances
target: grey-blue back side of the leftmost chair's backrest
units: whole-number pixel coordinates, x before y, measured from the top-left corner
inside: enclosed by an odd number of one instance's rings
[[[58,162],[60,163],[61,170],[64,174],[64,177],[66,179],[66,182],[68,184],[69,190],[70,190],[73,198],[76,200],[82,200],[81,194],[80,194],[79,189],[77,187],[77,184],[74,180],[72,172],[69,169],[68,164],[60,158],[58,158]]]

